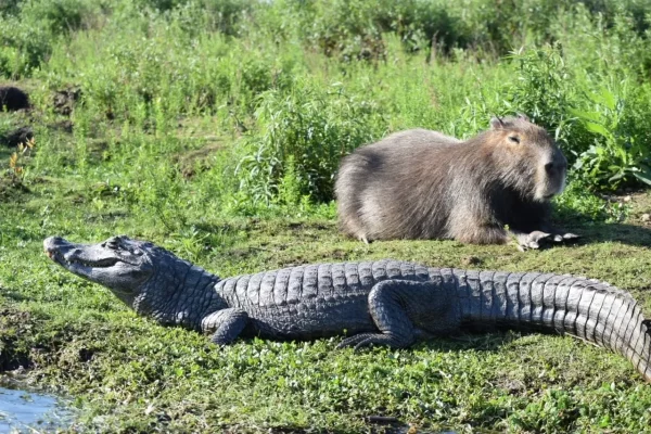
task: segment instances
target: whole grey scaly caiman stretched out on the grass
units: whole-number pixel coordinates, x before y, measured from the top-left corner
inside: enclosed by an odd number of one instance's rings
[[[347,334],[340,346],[406,347],[464,327],[571,334],[622,354],[651,382],[651,331],[625,291],[538,272],[431,268],[383,259],[319,264],[220,280],[152,243],[44,241],[48,256],[110,288],[138,314],[212,334],[307,340]]]

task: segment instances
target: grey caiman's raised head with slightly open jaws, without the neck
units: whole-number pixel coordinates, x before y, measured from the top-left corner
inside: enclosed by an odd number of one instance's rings
[[[159,263],[157,256],[167,253],[150,242],[131,240],[126,235],[112,237],[98,244],[76,244],[60,237],[50,237],[43,241],[43,248],[56,264],[110,288],[131,307],[154,276]]]

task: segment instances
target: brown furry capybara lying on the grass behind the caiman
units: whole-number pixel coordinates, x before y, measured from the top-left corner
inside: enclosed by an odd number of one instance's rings
[[[565,157],[525,116],[490,124],[464,142],[414,129],[346,156],[335,183],[341,229],[365,241],[465,243],[505,243],[506,225],[514,234],[551,231]]]

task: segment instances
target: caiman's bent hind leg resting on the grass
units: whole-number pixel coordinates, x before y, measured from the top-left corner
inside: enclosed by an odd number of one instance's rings
[[[416,324],[429,333],[444,332],[458,324],[455,298],[442,284],[409,280],[384,280],[369,293],[369,311],[380,333],[360,333],[345,339],[339,347],[356,349],[375,345],[407,347],[416,341]]]

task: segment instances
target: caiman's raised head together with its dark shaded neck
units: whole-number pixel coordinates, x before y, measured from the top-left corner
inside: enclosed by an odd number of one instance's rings
[[[66,270],[108,288],[138,314],[164,324],[196,327],[224,305],[213,291],[217,276],[148,241],[120,235],[76,244],[50,237],[43,247]]]

